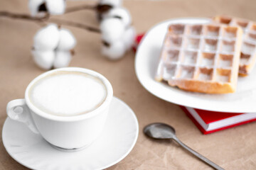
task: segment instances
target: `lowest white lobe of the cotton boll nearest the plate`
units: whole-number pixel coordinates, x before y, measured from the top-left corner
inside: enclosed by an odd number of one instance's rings
[[[122,41],[114,42],[110,47],[102,46],[102,55],[105,55],[110,60],[118,60],[124,56],[124,53],[125,45]]]

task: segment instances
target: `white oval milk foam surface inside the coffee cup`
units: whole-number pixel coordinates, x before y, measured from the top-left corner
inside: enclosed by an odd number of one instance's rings
[[[107,89],[97,77],[82,72],[60,72],[36,81],[29,91],[34,106],[53,115],[88,113],[105,101]]]

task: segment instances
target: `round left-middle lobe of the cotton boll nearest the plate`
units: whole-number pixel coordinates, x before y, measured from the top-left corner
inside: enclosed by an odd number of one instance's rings
[[[118,18],[106,18],[100,23],[102,39],[107,42],[119,40],[124,33],[124,24]]]

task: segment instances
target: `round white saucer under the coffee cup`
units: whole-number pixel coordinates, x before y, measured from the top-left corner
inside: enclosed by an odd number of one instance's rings
[[[113,98],[105,130],[89,147],[78,152],[61,152],[51,147],[26,125],[7,118],[2,138],[6,151],[30,169],[106,169],[131,152],[139,134],[136,115],[126,103]]]

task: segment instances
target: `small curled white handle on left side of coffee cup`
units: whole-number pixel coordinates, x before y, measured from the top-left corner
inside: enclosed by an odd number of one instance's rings
[[[10,101],[6,106],[6,112],[9,118],[25,123],[32,132],[39,134],[25,99]]]

